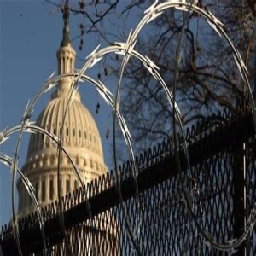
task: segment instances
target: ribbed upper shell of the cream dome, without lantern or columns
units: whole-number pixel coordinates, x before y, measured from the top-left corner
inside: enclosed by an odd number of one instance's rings
[[[63,129],[62,145],[65,148],[84,148],[90,153],[95,153],[103,158],[102,142],[95,120],[90,112],[79,100],[74,100],[67,108],[66,119],[62,126],[64,112],[67,106],[67,97],[55,97],[47,107],[39,114],[36,125],[44,128],[57,137],[61,137]],[[56,148],[50,143],[49,137],[43,134],[32,134],[30,139],[27,160],[33,154],[40,151]]]

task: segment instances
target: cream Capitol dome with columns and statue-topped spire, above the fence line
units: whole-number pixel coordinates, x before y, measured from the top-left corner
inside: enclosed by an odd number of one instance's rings
[[[58,73],[72,73],[75,58],[76,53],[69,39],[67,12],[64,14],[61,47],[57,51]],[[95,120],[81,102],[78,91],[75,92],[73,102],[67,109],[64,125],[61,127],[72,82],[73,78],[71,77],[59,81],[48,105],[39,114],[36,125],[57,137],[60,137],[61,132],[63,132],[62,145],[78,167],[82,180],[87,183],[108,172],[108,168],[104,163],[102,141]],[[64,153],[61,154],[60,166],[61,195],[66,195],[79,187],[79,179]],[[57,170],[57,146],[44,134],[32,134],[22,172],[26,174],[35,189],[39,207],[44,207],[58,199]],[[34,212],[34,203],[26,192],[21,179],[17,182],[17,189],[19,193],[19,215],[24,216]]]

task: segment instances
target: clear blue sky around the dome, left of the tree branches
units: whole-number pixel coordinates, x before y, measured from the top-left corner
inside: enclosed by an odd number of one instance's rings
[[[57,68],[56,50],[62,37],[61,13],[52,14],[53,7],[45,9],[42,1],[0,0],[0,132],[6,127],[19,125],[28,100],[37,94],[44,81]],[[79,17],[70,17],[71,38],[79,34]],[[93,36],[85,36],[86,50],[80,58],[96,47]],[[73,42],[79,53],[79,42]],[[81,67],[82,61],[77,61]],[[96,115],[96,103],[101,102],[96,90],[80,90],[82,102],[96,119],[104,150],[105,161],[109,166],[109,141],[105,134],[108,129],[110,111],[100,109]],[[36,120],[38,113],[49,101],[49,94],[38,102],[32,115]],[[18,165],[21,168],[26,160],[28,136],[23,136]],[[0,145],[0,151],[13,156],[16,136]],[[18,201],[15,195],[16,203]],[[0,164],[0,227],[11,217],[11,176],[9,168]]]

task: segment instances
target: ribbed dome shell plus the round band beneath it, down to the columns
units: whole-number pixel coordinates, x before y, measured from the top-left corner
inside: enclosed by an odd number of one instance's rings
[[[79,93],[67,108],[66,119],[62,127],[63,116],[67,106],[67,96],[59,90],[39,114],[36,125],[44,130],[61,137],[73,163],[79,168],[84,182],[107,172],[102,152],[102,141],[95,120],[89,110],[80,102]],[[22,171],[28,175],[44,175],[46,172],[56,172],[58,154],[56,143],[43,133],[35,133],[30,137],[26,164]],[[61,154],[61,172],[73,172],[73,166],[64,152]],[[73,172],[74,174],[74,172]]]

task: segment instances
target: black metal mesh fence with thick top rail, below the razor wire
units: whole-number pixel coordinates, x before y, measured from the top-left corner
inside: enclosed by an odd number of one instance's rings
[[[190,170],[183,149],[177,168],[171,140],[151,148],[136,159],[137,178],[127,162],[119,179],[109,172],[85,193],[78,189],[44,208],[45,240],[37,213],[20,219],[23,254],[216,255],[219,244],[234,253],[243,237],[237,255],[256,255],[255,219],[249,218],[256,203],[252,113],[213,117],[187,131],[186,140]],[[18,253],[11,224],[2,227],[0,250]]]

